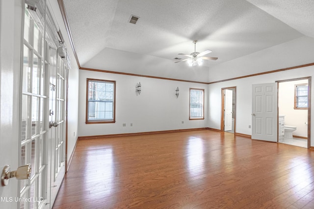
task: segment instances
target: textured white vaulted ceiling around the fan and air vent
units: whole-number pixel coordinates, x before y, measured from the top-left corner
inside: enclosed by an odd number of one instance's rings
[[[173,59],[193,52],[193,40],[197,51],[210,49],[208,56],[218,57],[204,61],[210,68],[314,37],[314,0],[64,0],[64,7],[78,61],[86,68],[95,57],[111,57],[108,49],[122,62],[130,54],[138,62],[149,56],[185,68]],[[131,15],[140,17],[136,24],[129,23]]]

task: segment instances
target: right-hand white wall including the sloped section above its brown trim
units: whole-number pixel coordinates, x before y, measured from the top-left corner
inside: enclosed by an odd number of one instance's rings
[[[263,71],[284,69],[314,62],[314,39],[303,36],[292,41],[266,48],[247,56],[215,66],[209,70],[211,82],[251,75]],[[236,86],[235,132],[251,135],[252,84],[273,83],[276,80],[314,76],[314,66],[295,70],[258,75],[231,81],[209,84],[209,127],[220,129],[221,88]],[[312,98],[313,98],[312,85]],[[214,102],[212,102],[214,101]],[[312,102],[312,109],[313,109]],[[314,121],[314,115],[311,116]],[[314,133],[314,122],[311,124]],[[312,137],[314,138],[314,137]],[[314,140],[311,146],[314,145]]]

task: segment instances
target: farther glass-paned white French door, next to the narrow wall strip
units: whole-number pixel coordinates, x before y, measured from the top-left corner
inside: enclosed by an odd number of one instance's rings
[[[50,91],[49,91],[49,188],[50,207],[56,198],[65,174],[65,76],[66,66],[50,48]]]

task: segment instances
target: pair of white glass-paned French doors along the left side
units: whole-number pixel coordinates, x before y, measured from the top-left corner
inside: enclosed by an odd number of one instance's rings
[[[25,9],[20,135],[20,165],[30,163],[31,176],[19,183],[19,207],[51,209],[65,174],[67,65],[32,14]]]

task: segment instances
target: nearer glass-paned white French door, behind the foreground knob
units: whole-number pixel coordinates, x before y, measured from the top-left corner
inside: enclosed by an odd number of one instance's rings
[[[25,10],[20,165],[31,165],[31,176],[19,182],[20,208],[42,208],[47,202],[47,76],[44,33]],[[28,201],[30,200],[30,201]]]

